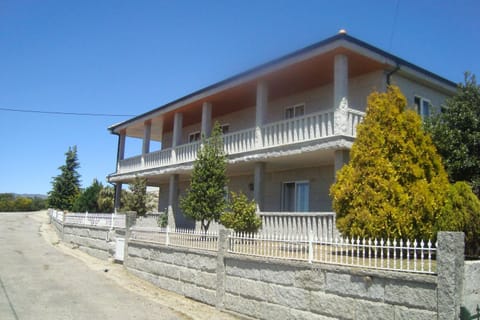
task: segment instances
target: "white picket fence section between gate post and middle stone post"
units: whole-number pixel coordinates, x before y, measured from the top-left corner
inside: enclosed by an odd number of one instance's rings
[[[217,232],[199,232],[190,229],[132,227],[131,239],[166,246],[195,248],[207,251],[218,250]]]

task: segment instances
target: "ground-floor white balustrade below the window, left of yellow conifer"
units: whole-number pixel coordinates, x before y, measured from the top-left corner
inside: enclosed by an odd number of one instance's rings
[[[307,234],[332,240],[338,236],[334,212],[261,212],[261,233],[269,235]]]

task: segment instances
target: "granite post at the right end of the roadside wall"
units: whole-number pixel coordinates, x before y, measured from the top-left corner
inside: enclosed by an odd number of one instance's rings
[[[463,232],[439,232],[437,245],[438,320],[458,319],[464,269]]]

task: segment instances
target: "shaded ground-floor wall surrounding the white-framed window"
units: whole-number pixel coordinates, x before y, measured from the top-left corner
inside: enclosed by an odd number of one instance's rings
[[[281,211],[283,182],[309,181],[309,211],[331,211],[329,189],[334,182],[332,166],[296,168],[265,174],[265,198],[263,211]]]

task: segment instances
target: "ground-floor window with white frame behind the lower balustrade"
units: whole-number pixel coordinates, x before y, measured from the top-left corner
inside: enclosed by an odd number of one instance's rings
[[[282,211],[306,212],[310,184],[306,181],[284,182],[282,190]]]

